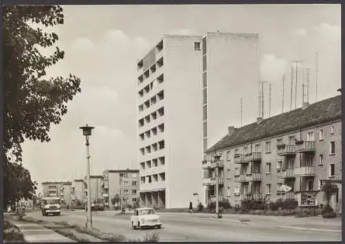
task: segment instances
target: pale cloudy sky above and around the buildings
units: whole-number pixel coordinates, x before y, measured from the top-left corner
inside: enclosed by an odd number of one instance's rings
[[[72,73],[81,78],[82,91],[68,103],[62,122],[51,126],[50,142],[23,143],[23,165],[39,185],[83,178],[86,146],[79,127],[88,123],[95,126],[90,138],[92,175],[105,169],[137,169],[136,63],[164,34],[203,35],[218,30],[259,34],[260,79],[272,84],[270,115],[282,112],[284,74],[284,111],[290,108],[293,60],[303,60],[304,68],[310,68],[309,102],[315,102],[315,52],[317,100],[337,95],[341,87],[340,10],[340,5],[300,4],[63,6],[65,23],[48,31],[59,35],[57,46],[66,55],[47,75]],[[41,51],[48,55],[52,49]],[[245,108],[244,113],[253,118],[244,124],[255,121],[257,110],[258,106]],[[239,126],[240,118],[229,124]]]

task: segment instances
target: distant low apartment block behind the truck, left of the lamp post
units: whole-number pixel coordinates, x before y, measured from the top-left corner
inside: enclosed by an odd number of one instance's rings
[[[72,182],[42,182],[42,196],[43,197],[59,197],[66,204],[72,202]]]

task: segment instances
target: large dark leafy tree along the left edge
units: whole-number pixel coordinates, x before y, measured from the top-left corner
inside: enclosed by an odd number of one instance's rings
[[[21,144],[25,139],[49,142],[51,124],[61,122],[68,101],[81,91],[73,75],[46,77],[46,69],[63,59],[63,50],[55,47],[49,56],[39,52],[59,37],[33,24],[63,24],[62,12],[60,6],[3,7],[4,205],[35,191],[30,172],[21,165]]]

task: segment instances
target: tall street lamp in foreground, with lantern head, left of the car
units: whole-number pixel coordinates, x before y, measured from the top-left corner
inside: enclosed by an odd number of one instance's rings
[[[86,228],[92,227],[92,215],[91,215],[91,187],[90,187],[90,150],[89,150],[89,141],[88,138],[91,135],[92,129],[95,129],[95,127],[88,126],[81,126],[79,127],[83,131],[83,135],[85,135],[86,138],[86,160],[87,160],[87,165],[86,165],[86,173],[87,173],[87,185],[88,185],[88,212],[86,214]],[[89,225],[90,223],[90,225]]]

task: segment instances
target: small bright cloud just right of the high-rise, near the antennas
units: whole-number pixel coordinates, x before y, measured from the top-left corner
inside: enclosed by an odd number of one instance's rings
[[[286,59],[278,59],[275,55],[266,54],[261,61],[260,76],[268,82],[281,81],[287,64]]]

